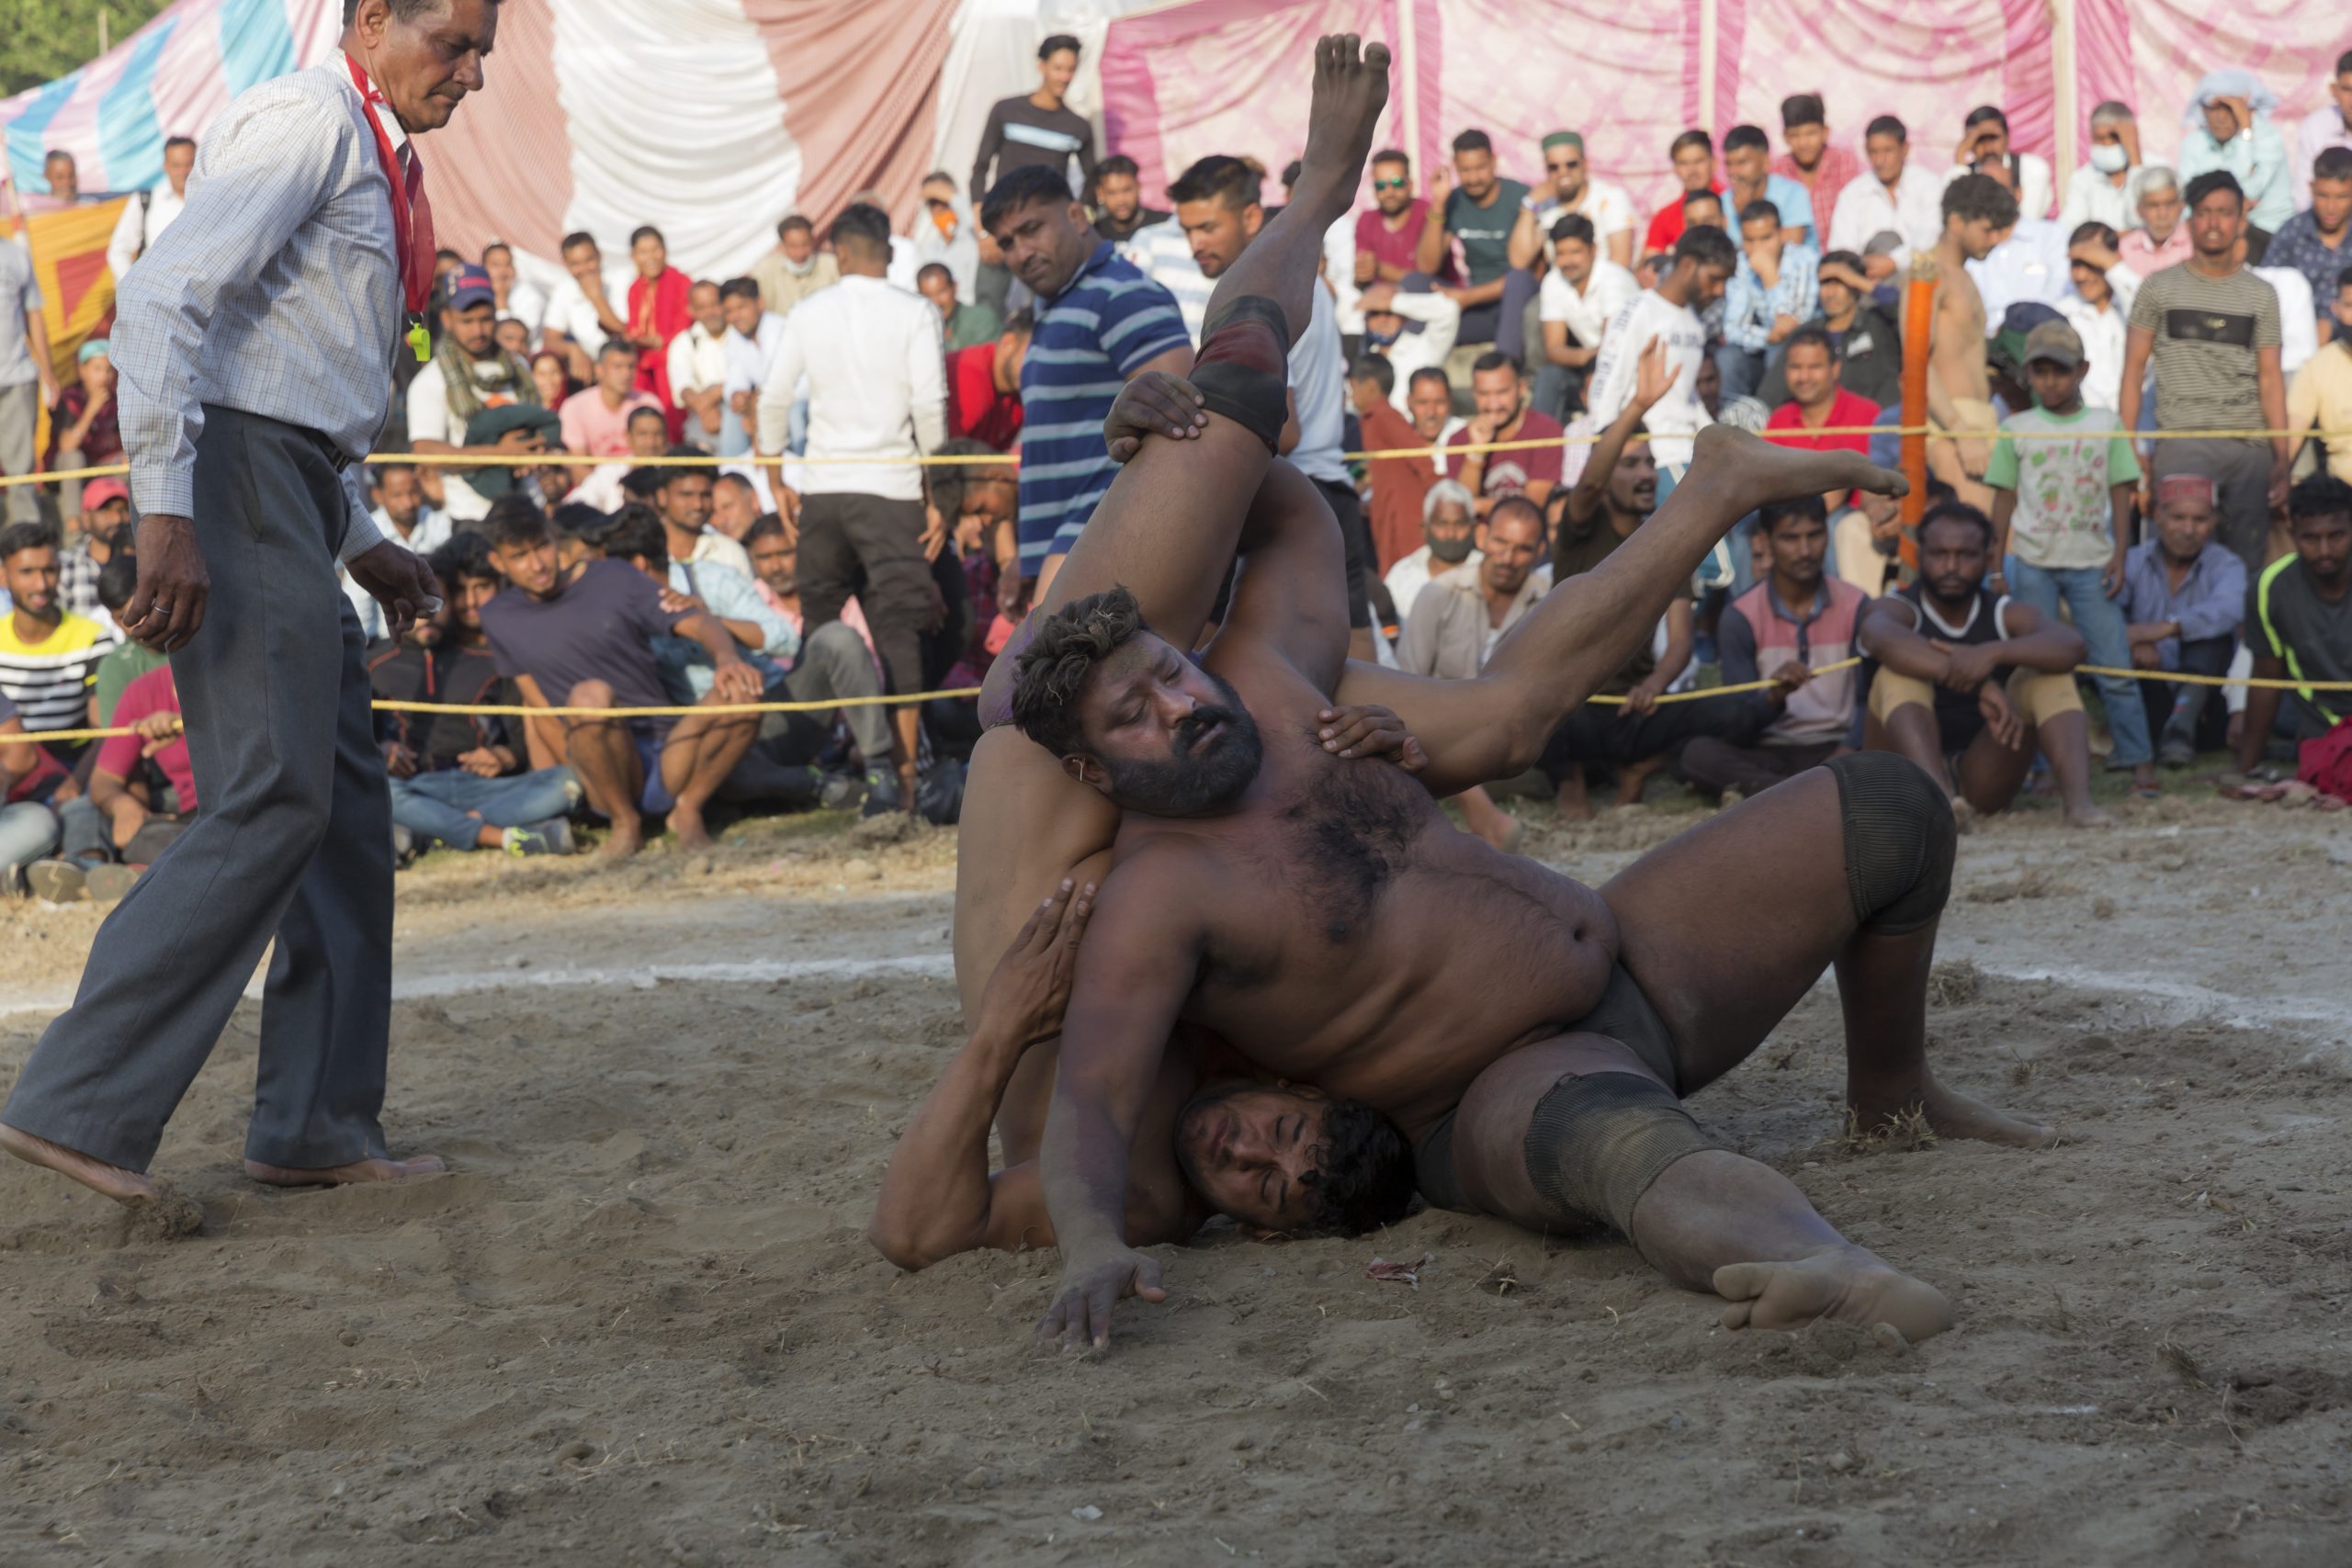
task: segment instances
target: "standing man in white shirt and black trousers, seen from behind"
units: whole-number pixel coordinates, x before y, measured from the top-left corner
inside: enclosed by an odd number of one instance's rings
[[[809,458],[800,496],[800,595],[809,628],[858,595],[896,691],[922,691],[922,632],[943,536],[924,520],[922,468],[948,440],[948,362],[931,301],[884,282],[889,214],[854,202],[833,219],[842,280],[800,301],[760,388],[760,451],[783,451],[793,388],[809,378]],[[781,487],[779,487],[781,494]],[[790,501],[786,501],[790,505]],[[856,585],[863,569],[866,583]],[[891,710],[898,792],[915,804],[915,705]]]

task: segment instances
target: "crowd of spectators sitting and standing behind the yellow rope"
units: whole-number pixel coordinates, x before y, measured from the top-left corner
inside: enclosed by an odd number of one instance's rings
[[[689,277],[652,226],[616,268],[567,235],[555,289],[503,242],[440,256],[433,350],[395,367],[383,440],[428,461],[367,484],[447,604],[393,642],[346,583],[379,698],[421,705],[379,715],[405,846],[567,853],[602,820],[626,851],[656,813],[696,839],[713,806],[953,818],[969,698],[870,698],[985,675],[1117,475],[1117,388],[1192,367],[1216,277],[1277,209],[1240,148],[1164,190],[1098,158],[1075,68],[1049,38],[1037,89],[990,113],[969,179],[922,181],[906,233],[861,195],[823,228],[786,214],[734,277]],[[2352,703],[2077,672],[2352,677],[2352,54],[2331,92],[2281,125],[2218,71],[2169,167],[2100,103],[2063,179],[1999,106],[1926,167],[1900,118],[1846,143],[1795,94],[1778,146],[1675,136],[1653,212],[1573,127],[1465,127],[1425,172],[1376,153],[1369,205],[1327,235],[1282,433],[1348,543],[1355,654],[1477,675],[1672,494],[1708,423],[1891,461],[1900,289],[1931,261],[1924,522],[1839,494],[1745,520],[1519,788],[1569,813],[1661,771],[1738,797],[1872,745],[1976,811],[2049,788],[2091,825],[2100,759],[2140,795],[2199,750],[2293,762]],[[118,273],[193,153],[176,139],[125,209]],[[56,386],[0,244],[0,468],[35,468],[42,404],[40,468],[118,461],[113,386],[103,341]],[[118,480],[0,494],[0,870],[115,896],[195,809],[169,670],[113,623],[129,501]],[[1663,701],[1717,682],[1757,689]],[[755,701],[811,708],[731,712]],[[89,724],[136,733],[40,741]],[[1486,790],[1461,804],[1517,837]]]

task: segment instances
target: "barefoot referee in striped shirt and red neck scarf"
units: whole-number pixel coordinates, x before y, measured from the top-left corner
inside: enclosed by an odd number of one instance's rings
[[[245,1171],[285,1187],[440,1171],[376,1114],[393,992],[393,816],[360,621],[437,607],[353,463],[421,350],[433,216],[409,136],[482,87],[496,0],[343,0],[341,52],[238,96],[188,205],[122,280],[115,369],[139,508],[122,630],[172,656],[195,823],[99,926],[73,1006],[0,1107],[0,1147],[106,1197],[146,1166],[261,950]]]

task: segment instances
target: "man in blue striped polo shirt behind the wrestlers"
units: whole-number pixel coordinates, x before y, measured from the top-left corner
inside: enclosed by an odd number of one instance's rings
[[[1096,237],[1056,169],[1000,179],[981,228],[1004,266],[1037,294],[1037,334],[1021,362],[1021,578],[1035,602],[1077,543],[1120,465],[1103,451],[1103,418],[1120,388],[1148,369],[1192,369],[1192,339],[1169,292]]]

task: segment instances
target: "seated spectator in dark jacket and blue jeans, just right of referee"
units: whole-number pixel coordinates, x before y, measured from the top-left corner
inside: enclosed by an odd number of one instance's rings
[[[400,642],[367,649],[379,701],[449,708],[515,708],[522,696],[499,675],[482,632],[482,607],[503,588],[480,534],[433,552],[442,609]],[[419,844],[499,849],[510,856],[569,856],[581,802],[567,766],[532,769],[522,719],[461,712],[376,715],[393,825]]]

